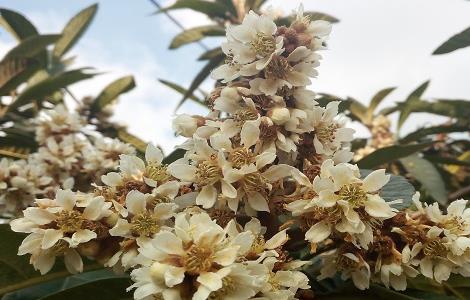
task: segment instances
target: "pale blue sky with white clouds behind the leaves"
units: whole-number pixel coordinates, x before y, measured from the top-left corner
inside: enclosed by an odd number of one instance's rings
[[[171,0],[157,0],[163,5]],[[1,0],[0,7],[26,15],[41,33],[57,33],[75,13],[99,3],[94,22],[69,53],[75,67],[93,66],[105,72],[70,87],[78,96],[97,95],[108,83],[134,75],[137,87],[123,95],[115,107],[116,121],[130,132],[156,143],[168,153],[182,140],[174,136],[171,120],[181,96],[158,78],[189,86],[203,64],[196,58],[204,51],[187,45],[170,51],[168,45],[180,30],[148,0]],[[329,49],[322,53],[319,76],[310,86],[315,92],[351,96],[365,104],[379,90],[397,89],[381,104],[402,101],[430,79],[426,98],[470,99],[470,48],[450,54],[431,53],[450,36],[470,26],[470,1],[465,0],[268,0],[273,9],[290,13],[302,2],[306,11],[331,14],[333,26]],[[208,24],[203,15],[179,10],[172,13],[185,28]],[[0,57],[15,41],[0,28]],[[216,46],[220,39],[207,39]],[[203,87],[208,91],[213,82]],[[177,113],[204,115],[206,110],[188,101]],[[428,114],[413,114],[400,135],[417,127],[443,122]],[[350,124],[357,136],[367,131]]]

